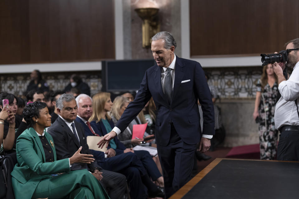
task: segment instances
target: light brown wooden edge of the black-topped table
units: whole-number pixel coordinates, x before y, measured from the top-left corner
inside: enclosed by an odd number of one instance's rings
[[[234,158],[216,158],[206,168],[202,169],[194,178],[187,182],[182,188],[175,192],[169,199],[181,199],[190,191],[203,177],[206,176],[221,160],[248,160],[248,161],[267,161],[267,162],[297,162],[299,161],[280,161],[280,160],[251,160],[251,159],[234,159]]]

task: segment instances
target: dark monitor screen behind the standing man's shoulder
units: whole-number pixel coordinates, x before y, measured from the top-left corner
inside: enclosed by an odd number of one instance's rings
[[[154,59],[102,62],[103,91],[138,90],[145,71],[154,66]]]

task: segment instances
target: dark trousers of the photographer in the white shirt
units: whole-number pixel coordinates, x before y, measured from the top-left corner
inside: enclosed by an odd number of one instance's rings
[[[299,131],[282,131],[277,146],[277,160],[299,160]]]

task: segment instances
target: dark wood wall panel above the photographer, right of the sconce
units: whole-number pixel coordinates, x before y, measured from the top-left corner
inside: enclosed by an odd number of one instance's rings
[[[299,37],[298,0],[190,0],[190,54],[274,53]]]

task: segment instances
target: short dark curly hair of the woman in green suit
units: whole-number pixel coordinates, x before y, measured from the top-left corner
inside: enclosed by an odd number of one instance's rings
[[[47,107],[45,102],[32,102],[27,104],[23,109],[23,118],[26,121],[28,127],[33,127],[35,122],[32,120],[33,117],[40,117],[40,110]]]

